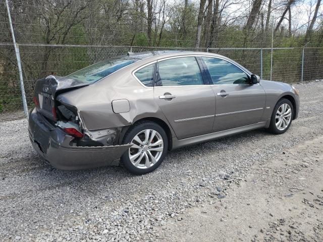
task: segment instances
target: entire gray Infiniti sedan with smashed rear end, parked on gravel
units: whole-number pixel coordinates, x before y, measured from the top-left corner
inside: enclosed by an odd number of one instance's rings
[[[286,132],[298,91],[231,59],[189,51],[129,52],[36,82],[29,137],[59,169],[156,169],[167,152],[265,128]]]

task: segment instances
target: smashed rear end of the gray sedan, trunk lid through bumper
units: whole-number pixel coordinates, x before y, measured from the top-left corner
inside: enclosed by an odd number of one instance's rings
[[[73,79],[48,76],[35,87],[29,138],[35,150],[59,169],[119,165],[131,146],[120,145],[122,128],[88,130],[76,105],[60,97],[84,86]]]

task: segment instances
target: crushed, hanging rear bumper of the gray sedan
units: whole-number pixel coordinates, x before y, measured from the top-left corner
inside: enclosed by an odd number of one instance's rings
[[[63,170],[118,165],[122,154],[131,146],[71,146],[74,137],[50,124],[35,109],[29,113],[28,131],[37,153],[52,166]]]

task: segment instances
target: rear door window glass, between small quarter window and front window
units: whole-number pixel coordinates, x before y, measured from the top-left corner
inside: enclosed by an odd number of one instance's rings
[[[192,85],[203,85],[195,57],[179,57],[159,62],[156,86]]]

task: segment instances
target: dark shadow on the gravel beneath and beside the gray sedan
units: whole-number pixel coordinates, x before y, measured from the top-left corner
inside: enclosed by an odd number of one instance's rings
[[[161,166],[152,173],[134,175],[119,166],[105,166],[86,170],[59,170],[47,164],[33,152],[29,157],[15,162],[17,175],[25,177],[25,183],[33,184],[33,191],[73,189],[78,193],[96,196],[103,190],[109,192],[117,187],[125,187],[129,194],[134,194],[141,183],[179,179],[184,176],[189,166],[198,165],[198,159],[214,154],[214,150],[235,149],[237,145],[252,139],[256,142],[263,136],[271,136],[265,130],[255,130],[247,133],[221,138],[218,140],[196,144],[171,151]],[[202,157],[202,158],[201,158]],[[217,162],[216,158],[213,158]],[[26,165],[22,165],[22,162]],[[189,162],[188,162],[189,161]],[[192,169],[193,169],[192,168]],[[181,173],[183,173],[181,175]],[[81,195],[77,196],[81,196]]]

